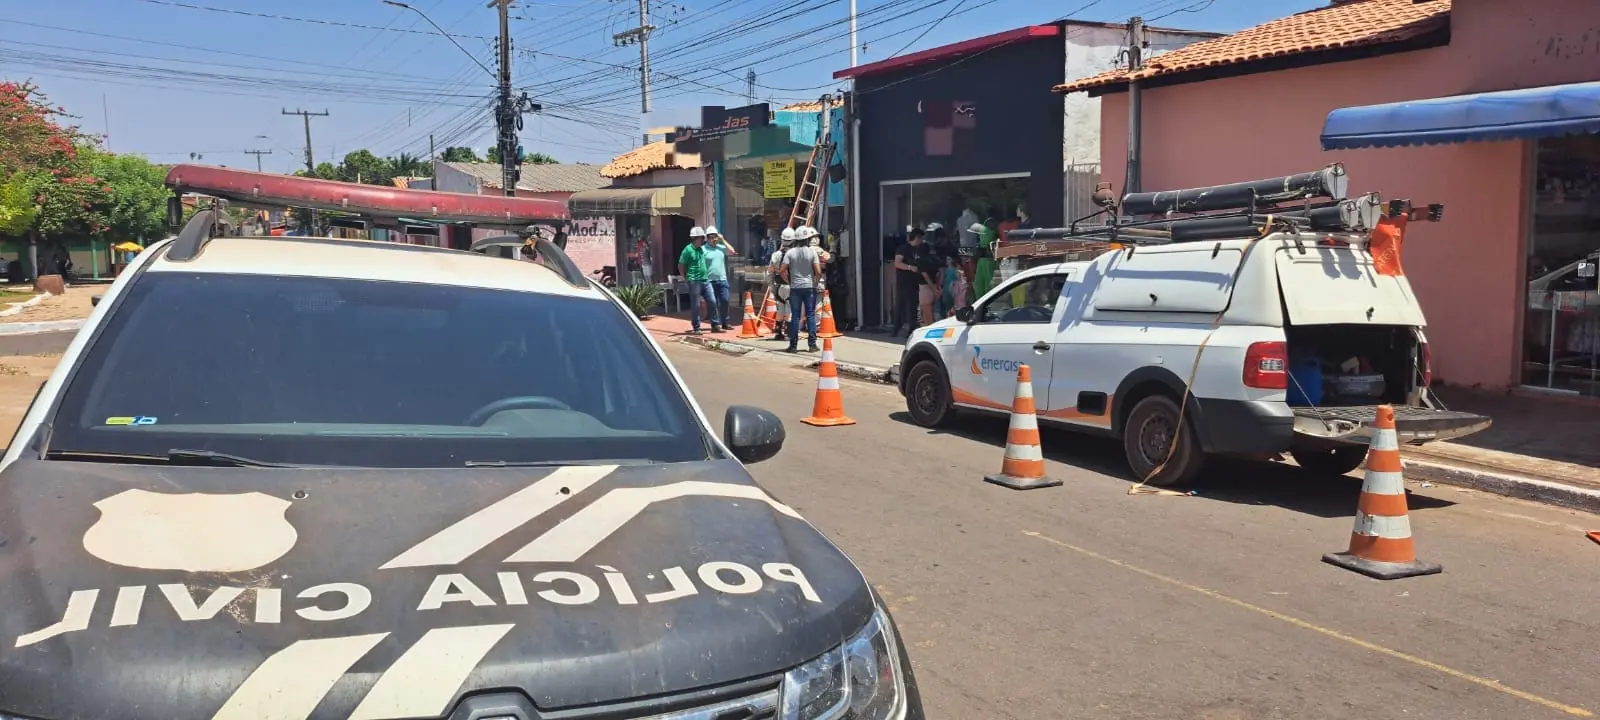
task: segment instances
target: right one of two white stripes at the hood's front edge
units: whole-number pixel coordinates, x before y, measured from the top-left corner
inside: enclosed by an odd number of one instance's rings
[[[427,630],[378,678],[349,720],[443,715],[467,675],[512,627],[502,624]]]

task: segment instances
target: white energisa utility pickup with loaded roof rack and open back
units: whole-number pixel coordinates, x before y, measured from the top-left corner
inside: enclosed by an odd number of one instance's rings
[[[1354,470],[1382,403],[1402,443],[1488,427],[1429,397],[1422,309],[1370,248],[1381,221],[1437,221],[1443,208],[1347,200],[1344,184],[1333,165],[1136,194],[1122,213],[1160,221],[1035,230],[1112,242],[1091,261],[1030,267],[914,331],[899,365],[910,416],[933,427],[957,408],[1008,413],[1027,363],[1040,422],[1120,438],[1136,478],[1166,486],[1192,480],[1206,454],[1290,453],[1312,472]]]

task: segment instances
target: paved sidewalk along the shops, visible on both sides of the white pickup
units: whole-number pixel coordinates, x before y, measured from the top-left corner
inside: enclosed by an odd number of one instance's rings
[[[686,317],[658,315],[645,326],[661,342],[688,342],[736,355],[760,352],[792,365],[818,365],[814,354],[789,355],[782,352],[784,342],[739,339],[738,330],[688,334]],[[834,357],[840,374],[894,384],[902,347],[885,334],[853,333],[834,339]],[[1600,410],[1462,389],[1438,390],[1435,398],[1451,410],[1494,418],[1494,424],[1459,442],[1402,448],[1408,478],[1600,514],[1600,443],[1594,440],[1600,437]]]

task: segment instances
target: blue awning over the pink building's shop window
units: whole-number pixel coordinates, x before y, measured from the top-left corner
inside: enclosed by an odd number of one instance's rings
[[[1600,133],[1600,82],[1341,107],[1323,150]]]

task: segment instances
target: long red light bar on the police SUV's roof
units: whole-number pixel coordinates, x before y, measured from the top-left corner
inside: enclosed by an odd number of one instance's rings
[[[173,166],[166,173],[166,186],[176,192],[197,192],[242,203],[331,210],[370,218],[506,226],[568,218],[566,205],[557,200],[406,190],[210,165]]]

